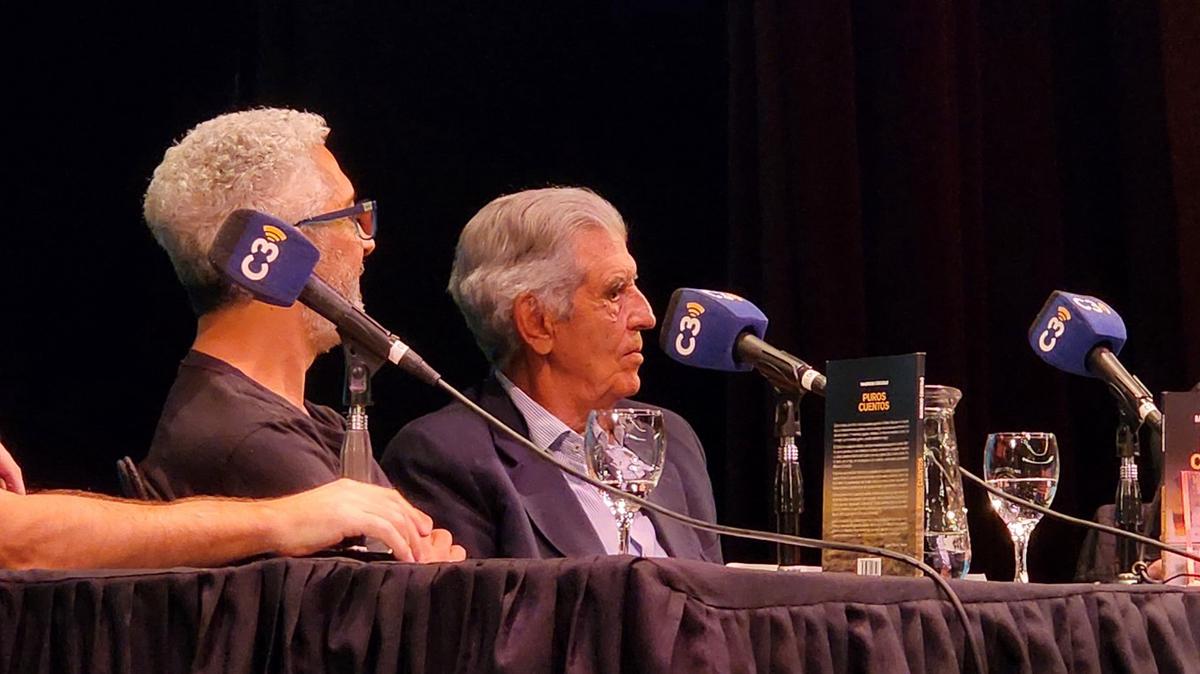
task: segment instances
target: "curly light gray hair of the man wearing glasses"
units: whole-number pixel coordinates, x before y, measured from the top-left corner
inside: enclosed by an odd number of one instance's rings
[[[332,198],[312,155],[328,134],[320,115],[260,108],[205,121],[163,155],[143,212],[197,315],[247,296],[208,261],[230,212],[253,209],[296,222]]]

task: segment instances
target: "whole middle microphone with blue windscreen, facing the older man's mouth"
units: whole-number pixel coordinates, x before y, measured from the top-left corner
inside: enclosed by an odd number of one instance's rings
[[[781,391],[824,396],[824,375],[763,342],[766,332],[766,314],[749,300],[719,290],[679,288],[671,294],[659,348],[683,365],[722,372],[757,369]]]

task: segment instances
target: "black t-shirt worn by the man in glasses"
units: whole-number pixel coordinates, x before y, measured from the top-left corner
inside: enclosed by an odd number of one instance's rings
[[[341,476],[344,420],[307,401],[305,409],[307,416],[232,365],[188,351],[142,473],[167,498],[282,497],[331,482]],[[390,486],[374,459],[371,471]]]

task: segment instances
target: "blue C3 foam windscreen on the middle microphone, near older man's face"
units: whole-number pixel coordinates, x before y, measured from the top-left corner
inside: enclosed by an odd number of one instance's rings
[[[671,295],[659,347],[684,365],[744,372],[752,366],[733,357],[743,332],[766,335],[767,317],[758,307],[731,293],[679,288]]]

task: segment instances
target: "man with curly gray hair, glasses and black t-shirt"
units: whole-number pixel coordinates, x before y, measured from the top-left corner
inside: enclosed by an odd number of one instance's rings
[[[142,463],[169,498],[280,497],[341,474],[343,419],[305,399],[306,372],[338,343],[336,329],[299,303],[253,300],[206,259],[230,212],[258,210],[298,223],[320,251],[317,272],[361,305],[373,219],[358,219],[354,186],[325,146],[328,134],[311,113],[226,114],[190,131],[154,171],[146,223],[197,314],[196,339]],[[378,464],[372,473],[390,486]]]

